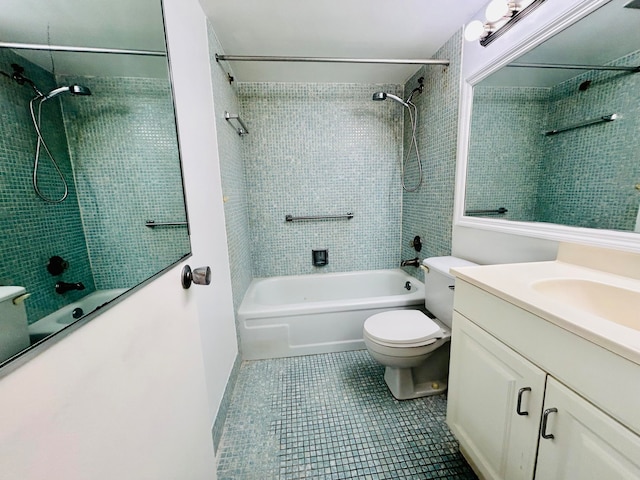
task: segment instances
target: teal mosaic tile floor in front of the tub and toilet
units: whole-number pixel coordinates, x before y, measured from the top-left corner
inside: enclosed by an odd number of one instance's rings
[[[475,479],[446,397],[395,400],[366,350],[244,362],[219,480]]]

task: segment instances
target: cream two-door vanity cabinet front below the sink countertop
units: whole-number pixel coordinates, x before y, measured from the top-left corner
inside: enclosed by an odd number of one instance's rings
[[[598,368],[588,345],[549,326],[457,280],[447,423],[461,451],[487,479],[640,479],[640,436],[625,417],[638,390],[606,375],[628,365],[605,355]]]

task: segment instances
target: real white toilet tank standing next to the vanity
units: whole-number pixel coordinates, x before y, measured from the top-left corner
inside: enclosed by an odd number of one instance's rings
[[[457,257],[430,257],[424,259],[422,265],[427,267],[424,274],[424,305],[438,320],[451,327],[454,277],[449,269],[477,264]]]

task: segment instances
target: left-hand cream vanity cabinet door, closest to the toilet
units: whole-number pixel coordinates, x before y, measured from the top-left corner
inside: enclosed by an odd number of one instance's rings
[[[454,312],[447,423],[488,479],[531,480],[546,374]]]

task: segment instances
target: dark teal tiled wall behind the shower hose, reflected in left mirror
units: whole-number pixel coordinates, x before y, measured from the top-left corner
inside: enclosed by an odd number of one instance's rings
[[[12,63],[22,65],[24,75],[40,90],[49,91],[56,86],[47,71],[8,49],[0,49],[0,70],[11,74]],[[29,100],[34,96],[28,85],[18,85],[0,75],[0,285],[24,286],[31,293],[25,302],[30,323],[94,290],[60,103],[56,99],[43,106],[42,131],[67,180],[69,196],[60,204],[45,203],[31,185],[36,133]],[[38,185],[47,196],[59,198],[64,191],[61,180],[44,152],[40,159]],[[69,262],[68,270],[58,277],[46,269],[53,255]],[[86,289],[59,295],[54,291],[58,280],[82,282]]]

